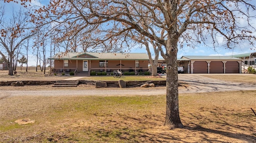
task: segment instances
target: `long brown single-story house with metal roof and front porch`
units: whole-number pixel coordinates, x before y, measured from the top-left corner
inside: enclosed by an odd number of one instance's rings
[[[54,73],[75,72],[90,75],[96,72],[145,72],[148,71],[148,55],[146,53],[57,53],[54,57]]]

